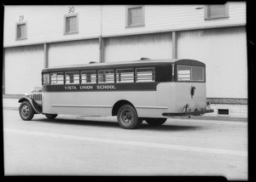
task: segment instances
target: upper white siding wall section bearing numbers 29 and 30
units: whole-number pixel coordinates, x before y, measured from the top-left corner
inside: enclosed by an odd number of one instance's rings
[[[74,7],[71,14],[79,14],[79,32],[64,34],[64,15]],[[15,41],[15,24],[20,15],[27,22],[27,39]],[[34,43],[79,40],[98,37],[100,32],[100,6],[5,6],[4,47]]]

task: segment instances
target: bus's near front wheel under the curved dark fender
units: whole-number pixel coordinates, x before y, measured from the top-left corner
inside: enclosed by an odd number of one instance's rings
[[[24,121],[31,121],[35,112],[32,109],[32,105],[28,101],[23,101],[19,107],[20,117]]]

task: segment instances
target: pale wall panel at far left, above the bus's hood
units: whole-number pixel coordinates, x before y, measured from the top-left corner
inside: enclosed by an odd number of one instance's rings
[[[5,94],[25,94],[41,87],[44,47],[5,48]]]

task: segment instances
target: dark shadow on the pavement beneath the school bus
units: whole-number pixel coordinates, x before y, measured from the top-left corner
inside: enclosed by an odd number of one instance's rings
[[[56,123],[56,124],[65,124],[65,125],[82,125],[82,126],[92,126],[92,127],[104,127],[104,128],[120,128],[119,123],[117,121],[111,121],[111,120],[86,120],[86,119],[62,119],[62,118],[55,118],[55,119],[33,119],[32,121],[35,122],[48,122],[48,123]],[[146,122],[143,122],[141,126],[136,128],[136,130],[150,130],[150,131],[181,131],[181,130],[198,130],[203,127],[201,126],[192,126],[192,125],[178,125],[173,124],[172,122],[166,122],[165,124],[161,126],[150,126]],[[122,128],[120,128],[122,129]]]

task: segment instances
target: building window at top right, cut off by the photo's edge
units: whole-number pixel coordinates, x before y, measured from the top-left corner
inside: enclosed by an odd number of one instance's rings
[[[228,18],[228,3],[205,6],[205,19]]]

